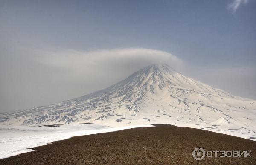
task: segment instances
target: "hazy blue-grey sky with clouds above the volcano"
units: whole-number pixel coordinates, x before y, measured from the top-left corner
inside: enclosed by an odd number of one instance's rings
[[[76,98],[163,61],[256,99],[256,0],[0,0],[0,112]]]

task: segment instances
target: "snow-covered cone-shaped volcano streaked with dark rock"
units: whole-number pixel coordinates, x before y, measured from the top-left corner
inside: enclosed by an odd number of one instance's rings
[[[166,123],[256,138],[256,101],[233,96],[154,64],[79,98],[0,114],[1,125]]]

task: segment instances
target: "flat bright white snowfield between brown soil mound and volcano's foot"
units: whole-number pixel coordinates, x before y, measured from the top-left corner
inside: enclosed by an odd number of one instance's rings
[[[65,124],[59,127],[0,126],[0,159],[34,151],[33,149],[51,142],[69,139],[73,136],[114,132],[137,127],[154,127],[143,124],[128,127],[108,127],[99,124]]]

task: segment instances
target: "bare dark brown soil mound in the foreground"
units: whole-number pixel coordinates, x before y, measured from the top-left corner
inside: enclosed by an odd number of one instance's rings
[[[206,130],[155,124],[118,132],[76,136],[0,159],[6,165],[41,164],[256,164],[256,142]],[[192,157],[206,151],[251,151],[251,157]]]

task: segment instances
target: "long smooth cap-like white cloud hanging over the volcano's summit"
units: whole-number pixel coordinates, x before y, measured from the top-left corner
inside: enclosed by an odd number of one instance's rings
[[[183,62],[169,52],[145,48],[102,49],[89,52],[55,50],[38,52],[38,62],[77,75],[94,72],[131,72],[152,63],[167,63],[180,68]]]

